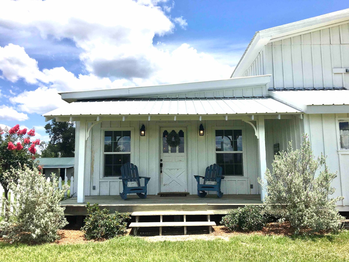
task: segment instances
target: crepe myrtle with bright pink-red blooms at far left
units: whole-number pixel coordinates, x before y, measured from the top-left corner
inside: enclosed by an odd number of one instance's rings
[[[0,128],[0,184],[5,189],[6,198],[8,181],[5,179],[5,172],[11,168],[23,168],[24,165],[34,166],[35,146],[40,144],[40,140],[30,141],[33,136],[35,136],[34,129],[27,132],[26,128],[21,130],[20,125],[15,125],[9,130]],[[17,181],[16,177],[10,179]]]

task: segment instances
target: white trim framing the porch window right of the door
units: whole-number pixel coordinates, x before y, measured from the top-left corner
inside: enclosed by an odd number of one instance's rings
[[[228,153],[242,153],[243,160],[243,176],[230,176],[225,177],[246,178],[247,179],[247,154],[246,154],[246,130],[244,126],[212,126],[212,148],[213,148],[213,163],[216,163],[216,130],[242,130],[242,151],[229,151]]]

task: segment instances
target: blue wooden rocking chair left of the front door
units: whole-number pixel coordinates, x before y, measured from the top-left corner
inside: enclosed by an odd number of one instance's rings
[[[140,178],[144,178],[144,187],[141,187]],[[122,199],[127,199],[127,194],[136,193],[140,198],[147,198],[147,184],[150,177],[139,176],[138,168],[133,163],[127,162],[121,166],[122,188],[124,189],[120,196]],[[143,194],[144,193],[144,194]]]

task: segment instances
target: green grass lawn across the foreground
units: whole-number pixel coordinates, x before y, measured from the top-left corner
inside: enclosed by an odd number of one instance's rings
[[[230,241],[104,242],[38,246],[0,243],[1,261],[349,261],[349,231],[318,237],[237,235]]]

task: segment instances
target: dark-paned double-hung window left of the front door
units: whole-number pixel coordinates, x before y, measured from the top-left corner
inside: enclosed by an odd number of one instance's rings
[[[130,161],[131,131],[104,131],[103,176],[121,176],[121,166]]]

